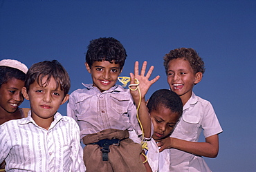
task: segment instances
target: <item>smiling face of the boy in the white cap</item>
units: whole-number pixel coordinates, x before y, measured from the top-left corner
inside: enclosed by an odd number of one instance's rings
[[[21,88],[24,81],[11,78],[7,83],[0,87],[0,108],[8,113],[15,113],[19,105],[24,101]]]

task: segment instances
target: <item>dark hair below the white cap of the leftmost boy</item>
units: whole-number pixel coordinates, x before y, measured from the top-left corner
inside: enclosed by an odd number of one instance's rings
[[[0,87],[6,84],[10,79],[15,78],[25,81],[26,74],[17,68],[0,66]]]

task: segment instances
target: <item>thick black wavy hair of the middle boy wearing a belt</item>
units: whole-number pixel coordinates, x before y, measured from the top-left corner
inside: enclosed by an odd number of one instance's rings
[[[120,64],[120,69],[122,69],[125,64],[127,57],[126,50],[120,41],[113,37],[93,39],[90,41],[87,49],[85,60],[90,68],[94,61],[102,60],[109,61],[110,63],[113,63],[112,60],[114,60],[115,64]]]

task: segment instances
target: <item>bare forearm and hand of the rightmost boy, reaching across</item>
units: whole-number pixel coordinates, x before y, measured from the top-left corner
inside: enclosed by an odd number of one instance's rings
[[[157,145],[161,146],[159,151],[174,148],[195,155],[217,157],[219,152],[219,136],[212,135],[210,137],[206,137],[205,142],[189,142],[186,140],[176,139],[174,137],[167,137],[158,142]]]

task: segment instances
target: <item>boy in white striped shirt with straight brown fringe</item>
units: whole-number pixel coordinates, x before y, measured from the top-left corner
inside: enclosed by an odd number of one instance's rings
[[[79,127],[57,112],[68,100],[70,79],[56,61],[33,64],[22,93],[28,117],[0,126],[0,161],[6,171],[85,171]]]

